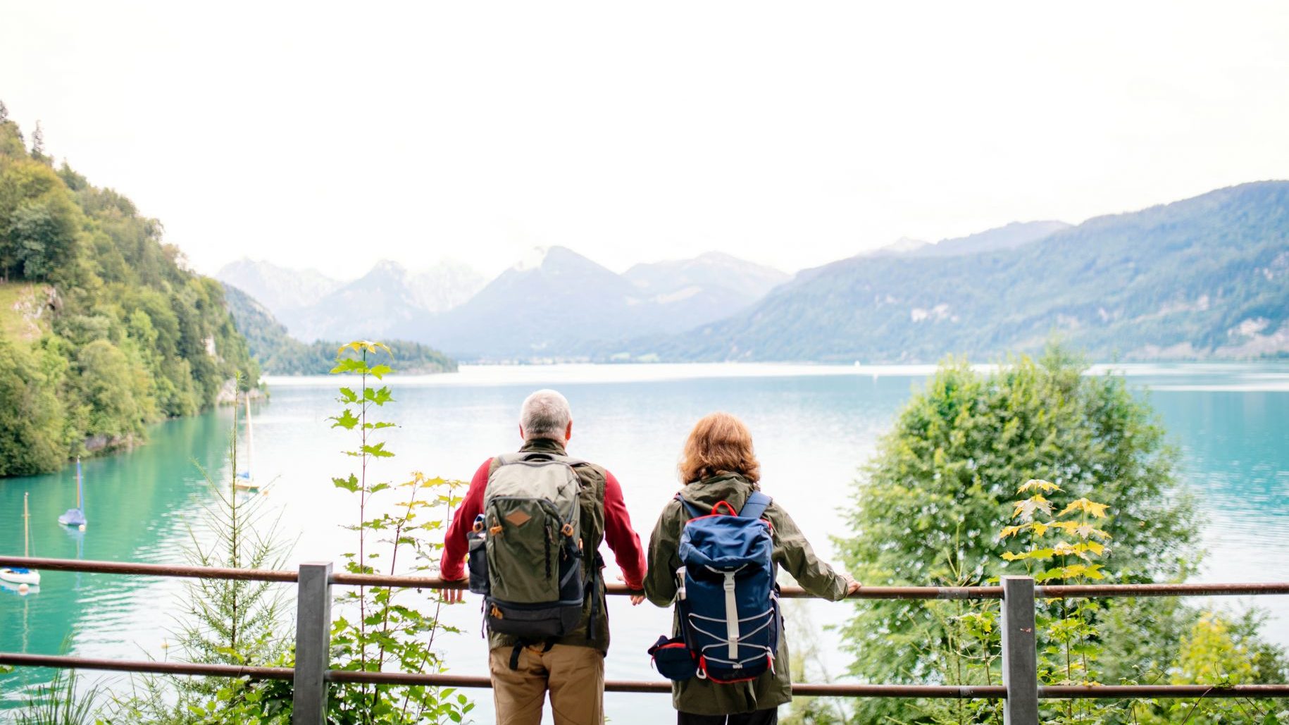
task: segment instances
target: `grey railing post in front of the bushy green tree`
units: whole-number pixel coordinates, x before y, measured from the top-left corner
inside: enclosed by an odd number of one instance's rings
[[[1030,577],[1003,577],[1003,724],[1038,725],[1039,667]]]

